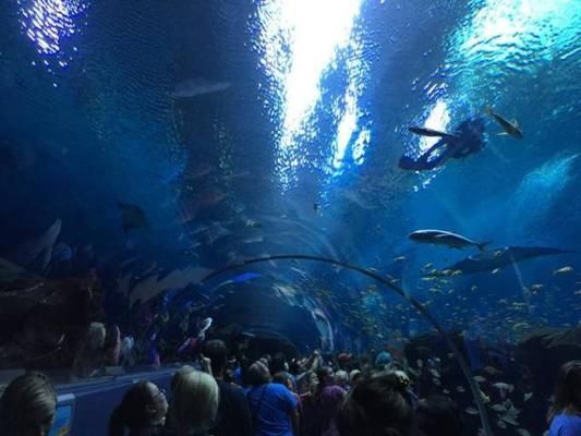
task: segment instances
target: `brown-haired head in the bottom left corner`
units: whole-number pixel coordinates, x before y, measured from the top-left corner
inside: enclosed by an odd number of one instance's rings
[[[50,432],[57,395],[47,376],[29,372],[14,378],[0,399],[0,434],[45,436]]]

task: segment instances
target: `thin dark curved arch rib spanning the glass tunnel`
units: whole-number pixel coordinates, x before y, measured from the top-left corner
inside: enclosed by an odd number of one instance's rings
[[[458,347],[456,347],[456,344],[450,339],[446,330],[444,330],[444,328],[438,323],[438,320],[427,311],[427,308],[424,307],[424,305],[421,302],[415,300],[413,296],[409,295],[402,288],[398,287],[397,284],[392,283],[389,280],[386,280],[384,277],[379,276],[378,274],[373,272],[366,268],[362,268],[358,265],[352,265],[347,262],[337,261],[332,258],[305,255],[305,254],[281,254],[281,255],[253,257],[253,258],[249,258],[244,261],[239,261],[231,265],[225,266],[223,268],[216,269],[209,272],[201,280],[201,283],[204,283],[228,271],[239,269],[247,265],[261,264],[261,263],[269,262],[269,261],[311,261],[311,262],[320,262],[325,264],[340,266],[342,268],[362,274],[364,276],[367,276],[376,280],[377,282],[382,283],[383,286],[385,286],[386,288],[388,288],[389,290],[394,291],[395,293],[400,295],[402,299],[404,299],[408,303],[410,303],[410,305],[412,305],[417,312],[420,312],[420,314],[422,314],[422,316],[424,316],[429,322],[429,324],[432,324],[432,326],[441,335],[446,344],[450,348],[451,352],[455,355],[456,361],[460,365],[460,370],[462,371],[468,382],[468,385],[470,386],[470,390],[472,391],[472,395],[474,397],[474,402],[476,403],[484,432],[486,436],[493,436],[493,431],[491,427],[491,423],[488,421],[486,409],[484,407],[484,401],[482,398],[481,390],[479,389],[476,383],[472,378],[472,372],[470,371],[468,362],[465,361],[464,356],[462,355]]]

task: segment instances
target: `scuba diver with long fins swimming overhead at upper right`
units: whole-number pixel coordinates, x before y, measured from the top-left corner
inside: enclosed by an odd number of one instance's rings
[[[404,170],[432,170],[450,158],[461,159],[484,148],[484,120],[482,118],[462,121],[455,133],[414,126],[409,129],[417,135],[440,137],[440,140],[417,159],[402,156],[399,160],[399,168]]]

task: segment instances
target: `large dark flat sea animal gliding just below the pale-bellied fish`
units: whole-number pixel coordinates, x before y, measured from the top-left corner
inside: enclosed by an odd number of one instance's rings
[[[554,256],[557,254],[574,253],[570,250],[550,249],[544,246],[504,246],[469,256],[445,269],[462,271],[462,274],[474,274],[491,271],[503,268],[530,258],[542,256]]]

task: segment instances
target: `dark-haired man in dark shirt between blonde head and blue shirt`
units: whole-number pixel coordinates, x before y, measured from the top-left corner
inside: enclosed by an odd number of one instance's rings
[[[215,436],[252,436],[252,417],[244,391],[223,380],[228,349],[221,340],[210,340],[204,346],[203,354],[210,360],[211,373],[218,383],[220,400]]]

